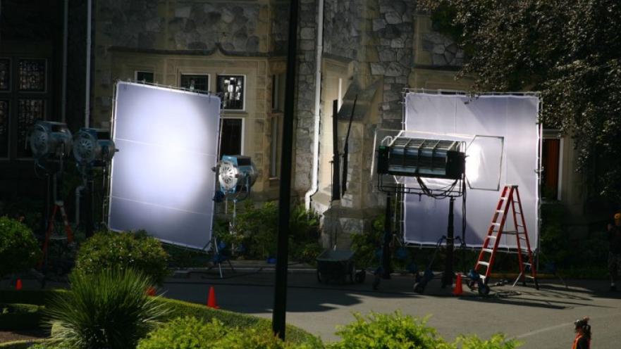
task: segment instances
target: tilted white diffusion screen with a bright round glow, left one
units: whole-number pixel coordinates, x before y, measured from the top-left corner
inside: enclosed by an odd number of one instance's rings
[[[119,82],[109,227],[204,248],[211,238],[220,99]]]

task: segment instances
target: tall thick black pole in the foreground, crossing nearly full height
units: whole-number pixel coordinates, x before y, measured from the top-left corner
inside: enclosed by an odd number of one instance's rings
[[[285,115],[281,152],[281,185],[278,197],[278,251],[276,253],[276,283],[272,312],[273,333],[285,339],[285,312],[287,307],[287,263],[289,242],[289,215],[291,196],[291,162],[293,153],[293,109],[295,99],[295,61],[297,56],[298,0],[291,0],[289,9],[289,42],[287,51],[287,79],[285,81]]]

